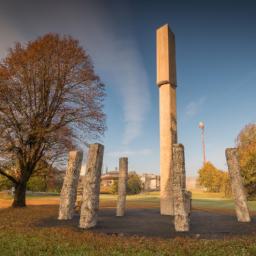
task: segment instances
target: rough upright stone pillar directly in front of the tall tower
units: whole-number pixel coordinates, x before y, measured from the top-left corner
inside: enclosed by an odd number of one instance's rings
[[[186,191],[185,157],[182,144],[173,144],[174,226],[176,231],[189,231],[191,194]]]

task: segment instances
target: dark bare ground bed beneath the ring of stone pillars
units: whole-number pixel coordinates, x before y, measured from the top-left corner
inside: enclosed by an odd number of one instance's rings
[[[40,227],[69,226],[78,229],[78,223],[79,215],[76,214],[73,220],[59,221],[57,218],[45,218],[37,225]],[[99,211],[98,225],[91,230],[117,236],[137,235],[159,238],[185,236],[222,239],[248,234],[256,235],[256,216],[253,216],[251,223],[239,223],[231,214],[195,210],[191,214],[190,232],[177,233],[174,230],[173,218],[161,216],[158,209],[128,209],[124,217],[116,217],[114,208],[102,208]]]

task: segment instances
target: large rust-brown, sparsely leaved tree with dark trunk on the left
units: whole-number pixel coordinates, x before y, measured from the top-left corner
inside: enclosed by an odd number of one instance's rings
[[[70,36],[17,43],[0,62],[0,174],[25,206],[27,182],[105,130],[104,85],[88,54]]]

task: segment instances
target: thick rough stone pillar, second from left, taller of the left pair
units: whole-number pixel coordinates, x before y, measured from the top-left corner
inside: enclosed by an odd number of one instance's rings
[[[86,173],[83,181],[80,228],[88,229],[97,224],[103,153],[103,145],[90,145],[86,163]]]

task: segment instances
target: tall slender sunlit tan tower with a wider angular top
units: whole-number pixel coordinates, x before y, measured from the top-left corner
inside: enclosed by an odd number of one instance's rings
[[[168,24],[157,29],[157,85],[160,115],[160,212],[173,212],[172,145],[177,143],[175,38]]]

